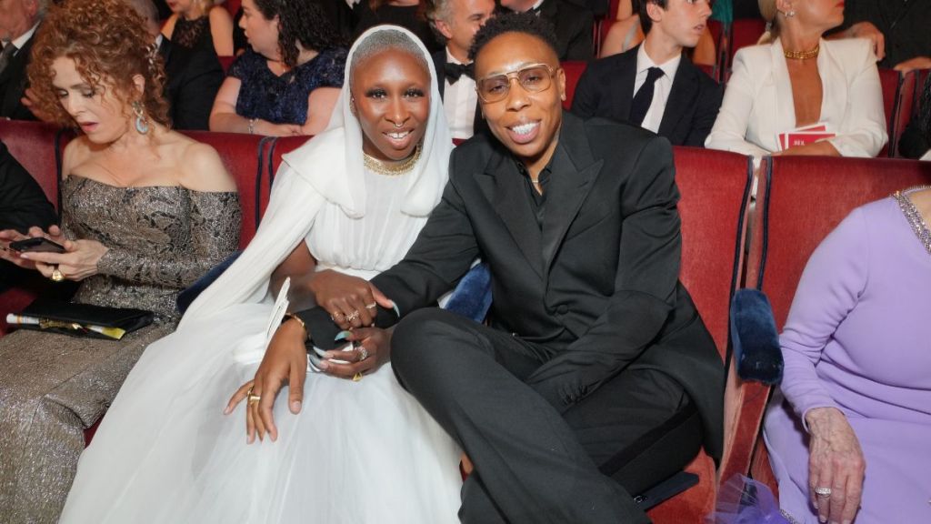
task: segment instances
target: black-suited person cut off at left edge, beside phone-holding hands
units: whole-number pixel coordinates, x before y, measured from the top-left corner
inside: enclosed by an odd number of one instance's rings
[[[34,226],[47,230],[57,223],[58,215],[42,188],[0,142],[0,231],[16,229],[25,234]],[[47,279],[0,260],[0,292],[24,283],[47,283]]]

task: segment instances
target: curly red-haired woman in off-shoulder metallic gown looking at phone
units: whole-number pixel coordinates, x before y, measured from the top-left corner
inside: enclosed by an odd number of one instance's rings
[[[236,249],[236,185],[216,151],[169,129],[162,63],[121,0],[69,0],[38,30],[36,104],[80,133],[62,162],[61,227],[34,227],[64,253],[0,256],[55,282],[73,302],[154,313],[118,341],[17,331],[0,339],[0,520],[55,522],[84,428],[115,397],[142,350],[174,330],[175,298]]]

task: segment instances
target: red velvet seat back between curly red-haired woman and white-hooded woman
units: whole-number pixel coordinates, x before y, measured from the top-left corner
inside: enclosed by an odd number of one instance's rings
[[[261,188],[256,188],[261,176],[262,136],[232,132],[183,131],[197,142],[212,146],[223,159],[226,171],[236,180],[239,205],[242,207],[242,228],[239,230],[239,248],[244,249],[255,236],[256,211],[260,206]],[[264,191],[267,201],[267,190]]]

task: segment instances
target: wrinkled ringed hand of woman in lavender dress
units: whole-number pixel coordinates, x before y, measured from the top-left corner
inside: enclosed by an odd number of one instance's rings
[[[808,457],[809,495],[821,522],[851,522],[863,493],[866,462],[857,434],[836,407],[805,413],[811,433]]]

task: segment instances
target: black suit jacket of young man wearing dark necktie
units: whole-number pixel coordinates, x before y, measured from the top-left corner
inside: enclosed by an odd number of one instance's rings
[[[575,88],[573,113],[583,118],[627,121],[634,98],[638,49],[640,46],[589,63]],[[717,82],[682,56],[657,134],[672,145],[704,147],[723,95]]]

